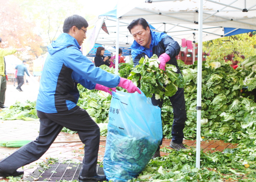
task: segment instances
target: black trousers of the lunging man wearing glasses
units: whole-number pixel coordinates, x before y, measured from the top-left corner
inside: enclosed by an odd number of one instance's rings
[[[76,106],[71,110],[58,113],[37,111],[37,115],[40,118],[39,136],[36,140],[2,159],[0,170],[13,173],[18,168],[38,160],[48,150],[64,126],[72,131],[77,131],[79,138],[85,144],[83,166],[79,175],[95,176],[97,174],[100,130],[89,114]]]

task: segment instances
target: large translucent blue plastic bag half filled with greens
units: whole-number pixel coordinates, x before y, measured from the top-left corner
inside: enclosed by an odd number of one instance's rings
[[[157,150],[161,109],[143,92],[112,94],[103,168],[107,180],[123,182],[136,178]]]

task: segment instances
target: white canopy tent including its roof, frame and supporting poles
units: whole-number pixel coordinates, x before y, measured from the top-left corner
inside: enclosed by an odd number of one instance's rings
[[[116,10],[112,10],[102,16],[117,18],[116,24],[111,25],[113,27],[113,31],[111,32],[114,34],[117,33],[116,37],[109,37],[109,43],[113,43],[113,40],[114,43],[116,43],[116,50],[118,50],[119,45],[125,47],[125,45],[122,44],[122,41],[125,40],[124,36],[127,38],[125,44],[130,46],[133,42],[127,30],[121,29],[122,27],[127,27],[127,22],[125,21],[144,18],[150,25],[156,27],[155,31],[164,31],[179,43],[182,38],[197,42],[198,52],[202,52],[203,41],[224,37],[225,34],[231,33],[239,28],[256,30],[256,1],[130,0],[127,2],[120,0]],[[224,34],[223,27],[235,29]],[[96,40],[96,43],[99,43],[97,41],[99,41],[99,39]],[[118,62],[116,62],[116,64],[118,64]],[[117,68],[118,65],[116,65],[116,73],[118,72]],[[200,141],[202,54],[198,54],[197,78],[197,141]],[[199,168],[200,142],[197,142],[196,148],[196,167]]]

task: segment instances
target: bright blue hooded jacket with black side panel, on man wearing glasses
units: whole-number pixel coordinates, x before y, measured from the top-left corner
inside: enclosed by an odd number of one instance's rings
[[[77,84],[93,90],[96,83],[116,87],[120,77],[102,70],[79,50],[77,40],[61,34],[48,46],[36,109],[44,113],[57,113],[74,108],[79,98]]]

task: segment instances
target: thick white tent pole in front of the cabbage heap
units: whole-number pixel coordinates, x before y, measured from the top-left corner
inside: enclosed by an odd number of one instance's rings
[[[198,15],[198,53],[197,53],[197,121],[196,121],[196,168],[200,168],[201,150],[201,99],[202,99],[202,46],[203,46],[203,0],[199,1]]]

